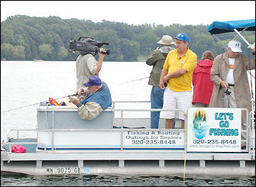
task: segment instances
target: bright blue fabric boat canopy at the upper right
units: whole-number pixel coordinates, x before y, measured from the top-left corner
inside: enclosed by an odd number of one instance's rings
[[[238,20],[238,21],[213,21],[208,27],[210,34],[221,34],[227,32],[242,31],[248,27],[246,31],[255,31],[255,19]]]

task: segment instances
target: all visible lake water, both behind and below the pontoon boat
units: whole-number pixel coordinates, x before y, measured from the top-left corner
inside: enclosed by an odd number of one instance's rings
[[[33,104],[48,101],[50,97],[60,98],[73,95],[76,90],[75,68],[73,61],[1,61],[1,140],[6,139],[6,133],[10,128],[34,129],[36,127],[36,105]],[[144,79],[150,73],[151,66],[147,66],[144,62],[103,62],[99,76],[109,85],[113,101],[150,101],[151,85],[147,85],[148,79]],[[24,136],[28,135],[30,134],[24,134]],[[1,185],[254,186],[255,178],[186,176],[184,181],[183,176],[27,176],[1,174]]]

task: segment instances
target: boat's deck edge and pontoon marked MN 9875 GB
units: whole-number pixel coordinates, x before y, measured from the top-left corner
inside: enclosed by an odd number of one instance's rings
[[[5,152],[1,157],[2,171],[35,175],[182,175],[186,172],[187,175],[255,176],[255,160],[251,159],[250,153],[112,150],[98,153]]]

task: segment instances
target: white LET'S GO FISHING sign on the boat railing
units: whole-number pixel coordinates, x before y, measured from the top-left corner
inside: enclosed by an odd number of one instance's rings
[[[241,152],[241,109],[190,108],[187,152]]]

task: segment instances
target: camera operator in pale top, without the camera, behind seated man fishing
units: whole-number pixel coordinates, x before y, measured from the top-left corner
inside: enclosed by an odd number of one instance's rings
[[[104,50],[101,48],[99,51]],[[80,53],[76,59],[76,89],[83,87],[83,83],[89,80],[89,76],[99,76],[99,71],[102,69],[102,62],[105,54],[99,53],[99,60],[96,61],[92,53]]]

